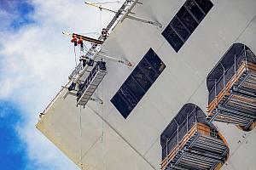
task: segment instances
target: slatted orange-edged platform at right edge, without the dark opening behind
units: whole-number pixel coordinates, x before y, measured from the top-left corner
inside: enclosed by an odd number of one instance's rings
[[[244,63],[223,92],[209,104],[211,121],[247,129],[256,120],[256,65]]]

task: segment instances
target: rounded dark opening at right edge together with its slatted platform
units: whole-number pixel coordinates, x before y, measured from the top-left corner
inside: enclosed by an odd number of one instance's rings
[[[235,43],[207,77],[210,121],[252,129],[256,120],[256,58],[247,46]]]

